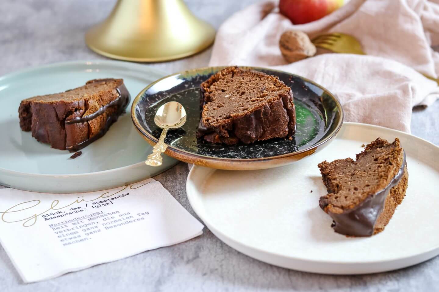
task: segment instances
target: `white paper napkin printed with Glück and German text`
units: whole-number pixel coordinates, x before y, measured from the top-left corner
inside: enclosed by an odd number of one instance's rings
[[[154,179],[112,190],[0,190],[0,243],[25,283],[181,243],[198,222]]]

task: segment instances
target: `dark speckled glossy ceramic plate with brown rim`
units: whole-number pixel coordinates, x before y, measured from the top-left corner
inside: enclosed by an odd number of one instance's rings
[[[162,130],[154,123],[155,112],[169,101],[177,101],[184,106],[187,121],[182,128],[168,132],[166,154],[184,162],[217,169],[267,169],[286,165],[321,150],[340,130],[342,106],[325,88],[287,72],[241,67],[275,75],[291,87],[297,116],[294,139],[270,139],[231,146],[197,140],[199,86],[222,68],[209,67],[169,75],[142,90],[133,101],[131,118],[144,139],[150,144],[157,143]]]

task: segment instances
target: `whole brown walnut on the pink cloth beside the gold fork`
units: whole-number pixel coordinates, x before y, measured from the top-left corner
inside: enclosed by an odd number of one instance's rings
[[[289,63],[314,56],[316,46],[309,40],[305,32],[288,30],[281,35],[279,48]]]

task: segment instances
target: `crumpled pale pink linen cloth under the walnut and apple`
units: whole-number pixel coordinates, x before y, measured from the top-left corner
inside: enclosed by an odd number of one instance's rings
[[[328,32],[353,35],[367,56],[325,53],[288,64],[278,47],[288,29],[310,39]],[[210,66],[273,67],[307,77],[342,102],[345,120],[410,132],[413,106],[431,105],[437,77],[439,0],[350,0],[304,25],[292,25],[266,0],[231,16],[219,28]],[[421,74],[422,73],[422,74]]]

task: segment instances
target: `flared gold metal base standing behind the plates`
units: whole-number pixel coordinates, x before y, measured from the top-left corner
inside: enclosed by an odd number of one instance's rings
[[[161,62],[206,49],[215,30],[196,18],[183,0],[118,0],[85,39],[90,49],[113,59]]]

